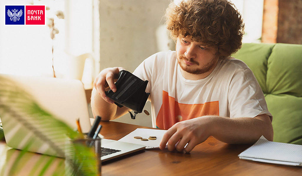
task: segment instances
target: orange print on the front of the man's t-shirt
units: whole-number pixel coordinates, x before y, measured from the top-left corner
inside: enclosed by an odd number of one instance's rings
[[[156,126],[160,129],[169,129],[177,122],[205,115],[219,116],[218,101],[204,104],[182,104],[175,102],[175,98],[162,91],[162,107],[156,117]]]

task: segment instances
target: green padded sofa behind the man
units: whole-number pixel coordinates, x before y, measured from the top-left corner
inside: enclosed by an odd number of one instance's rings
[[[244,43],[233,57],[252,69],[262,88],[274,141],[302,145],[302,45]]]

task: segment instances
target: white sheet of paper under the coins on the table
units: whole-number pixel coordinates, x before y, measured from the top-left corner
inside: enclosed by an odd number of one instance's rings
[[[162,140],[162,136],[165,134],[167,130],[159,130],[159,129],[145,129],[145,128],[137,128],[133,132],[130,132],[125,137],[121,138],[118,141],[133,143],[133,144],[141,144],[145,145],[146,148],[159,148],[160,141]],[[142,138],[148,139],[149,136],[156,136],[156,140],[148,140],[141,141],[140,139],[134,139],[135,136],[140,136]]]

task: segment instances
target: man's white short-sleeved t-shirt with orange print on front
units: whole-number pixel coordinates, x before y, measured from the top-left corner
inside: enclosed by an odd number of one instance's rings
[[[250,68],[234,58],[220,60],[207,77],[185,79],[175,51],[145,59],[133,72],[149,83],[152,126],[169,129],[175,123],[205,115],[255,117],[272,115]]]

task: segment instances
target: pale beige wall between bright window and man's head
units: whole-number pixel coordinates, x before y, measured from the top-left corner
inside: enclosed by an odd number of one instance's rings
[[[164,24],[162,17],[169,3],[170,0],[100,0],[100,69],[122,66],[133,72],[144,59],[158,52],[156,31]],[[144,109],[151,113],[149,102]],[[127,114],[115,121],[152,126],[151,115],[144,113],[137,114],[136,120]]]

